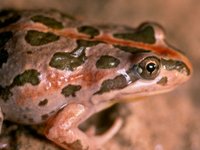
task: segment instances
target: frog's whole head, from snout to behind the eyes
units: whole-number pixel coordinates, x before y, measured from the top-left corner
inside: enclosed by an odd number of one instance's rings
[[[159,25],[144,24],[133,34],[120,33],[115,37],[123,40],[116,46],[118,53],[109,51],[109,54],[114,53],[120,64],[107,73],[112,77],[103,80],[100,89],[94,93],[100,95],[96,97],[97,102],[102,99],[113,99],[112,102],[127,98],[137,100],[170,91],[190,78],[190,61],[165,42]],[[116,62],[112,61],[112,64]]]

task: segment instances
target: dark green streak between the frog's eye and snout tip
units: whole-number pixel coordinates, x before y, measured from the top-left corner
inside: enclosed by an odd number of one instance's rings
[[[182,61],[161,59],[161,63],[167,70],[177,70],[185,75],[190,75],[190,69]]]

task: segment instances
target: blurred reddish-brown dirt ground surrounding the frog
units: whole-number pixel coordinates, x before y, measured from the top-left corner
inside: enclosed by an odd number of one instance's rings
[[[0,8],[54,8],[92,23],[137,26],[144,21],[159,22],[166,30],[167,41],[192,60],[194,74],[189,82],[171,93],[126,105],[130,113],[104,149],[200,149],[200,1],[1,0]],[[9,126],[14,128],[4,133],[7,135],[4,141],[14,140],[12,149],[25,150],[27,145],[30,150],[58,149],[29,127]]]

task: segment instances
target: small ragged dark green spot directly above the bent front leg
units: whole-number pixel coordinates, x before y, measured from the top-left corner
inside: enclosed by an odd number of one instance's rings
[[[76,95],[75,95],[75,93],[77,92],[77,91],[79,91],[81,89],[81,86],[80,85],[71,85],[71,84],[69,84],[69,85],[67,85],[66,87],[64,87],[63,89],[62,89],[62,94],[65,96],[65,97],[69,97],[70,95],[71,96],[73,96],[73,97],[75,97]]]

